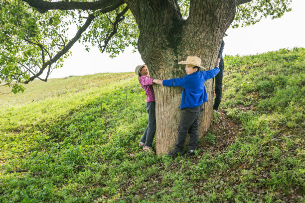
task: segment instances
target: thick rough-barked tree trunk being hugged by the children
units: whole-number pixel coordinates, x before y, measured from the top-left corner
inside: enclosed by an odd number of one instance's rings
[[[235,0],[191,0],[189,17],[180,16],[175,0],[125,0],[140,29],[139,52],[151,77],[185,76],[178,61],[188,55],[201,58],[207,70],[214,68],[222,37],[234,19]],[[199,136],[213,121],[212,82],[205,82],[208,101],[200,117]],[[177,137],[182,88],[154,85],[156,99],[156,152],[167,153]]]

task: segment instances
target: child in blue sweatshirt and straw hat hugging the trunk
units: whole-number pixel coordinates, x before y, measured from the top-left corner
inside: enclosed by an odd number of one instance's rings
[[[200,71],[205,69],[202,67],[201,59],[196,56],[188,56],[186,61],[180,61],[178,64],[185,64],[186,76],[183,78],[175,78],[170,80],[157,81],[156,83],[167,86],[183,88],[181,98],[181,117],[178,125],[177,139],[175,146],[167,154],[176,156],[183,153],[183,146],[187,132],[190,134],[189,150],[186,156],[193,156],[198,145],[198,125],[199,116],[203,111],[202,104],[207,101],[204,82],[214,78],[219,72],[219,68],[215,67],[209,71]]]

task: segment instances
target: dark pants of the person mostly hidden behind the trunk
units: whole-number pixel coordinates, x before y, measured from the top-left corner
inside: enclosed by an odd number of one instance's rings
[[[215,76],[215,79],[213,78],[213,88],[214,88],[214,80],[215,80],[215,101],[214,101],[214,110],[218,110],[221,96],[222,96],[222,77],[223,77],[223,68],[224,68],[224,62],[223,59],[220,60],[219,63],[219,73]],[[214,94],[213,94],[214,95]]]

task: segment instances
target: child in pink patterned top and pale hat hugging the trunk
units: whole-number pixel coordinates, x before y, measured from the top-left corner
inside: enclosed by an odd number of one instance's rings
[[[143,147],[142,150],[144,152],[154,153],[152,150],[152,141],[155,134],[156,122],[155,122],[155,100],[154,100],[154,92],[152,89],[152,85],[153,83],[157,83],[160,80],[150,78],[150,72],[145,64],[137,66],[135,72],[139,76],[139,82],[142,88],[145,90],[145,95],[147,95],[146,110],[149,114],[148,125],[141,138],[139,147]]]

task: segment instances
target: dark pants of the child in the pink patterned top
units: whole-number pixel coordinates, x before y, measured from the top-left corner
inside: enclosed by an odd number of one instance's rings
[[[155,102],[146,103],[146,110],[149,113],[149,123],[143,133],[141,142],[145,143],[146,147],[152,147],[152,141],[155,133]]]

